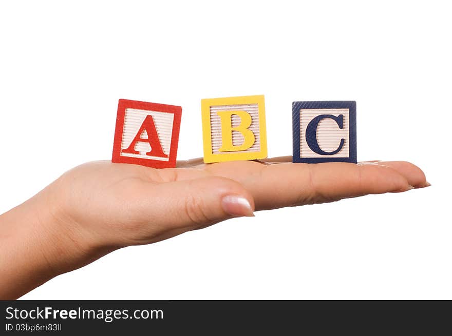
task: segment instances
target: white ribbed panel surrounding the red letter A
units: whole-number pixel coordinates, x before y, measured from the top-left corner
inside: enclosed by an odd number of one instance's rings
[[[123,150],[127,149],[140,130],[141,125],[147,115],[152,115],[154,124],[157,129],[160,144],[162,145],[163,152],[168,157],[157,157],[146,155],[150,151],[150,145],[148,142],[138,142],[135,145],[135,150],[140,152],[139,154],[124,153]],[[171,148],[171,136],[173,134],[173,122],[174,114],[158,111],[138,110],[127,108],[124,116],[124,128],[122,133],[121,142],[121,156],[140,157],[141,159],[152,159],[159,161],[170,161],[170,148]],[[146,131],[141,134],[142,139],[147,139]]]

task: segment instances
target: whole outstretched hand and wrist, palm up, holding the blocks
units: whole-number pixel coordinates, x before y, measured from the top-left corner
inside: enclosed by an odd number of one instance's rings
[[[0,299],[129,245],[155,243],[254,211],[429,186],[408,162],[265,161],[178,168],[90,162],[0,215]]]

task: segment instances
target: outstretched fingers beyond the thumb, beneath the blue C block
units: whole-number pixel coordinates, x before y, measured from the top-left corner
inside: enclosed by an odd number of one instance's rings
[[[404,174],[383,165],[349,163],[261,165],[256,162],[213,164],[212,174],[234,179],[254,197],[256,210],[323,203],[370,193],[412,189]]]

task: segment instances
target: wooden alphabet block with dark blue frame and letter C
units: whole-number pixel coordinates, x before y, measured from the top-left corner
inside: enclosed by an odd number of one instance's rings
[[[356,102],[293,102],[293,162],[356,163]]]

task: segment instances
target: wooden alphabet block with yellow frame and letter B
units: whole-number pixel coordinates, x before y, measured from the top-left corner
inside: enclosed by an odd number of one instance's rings
[[[201,100],[204,162],[267,157],[263,95]]]

